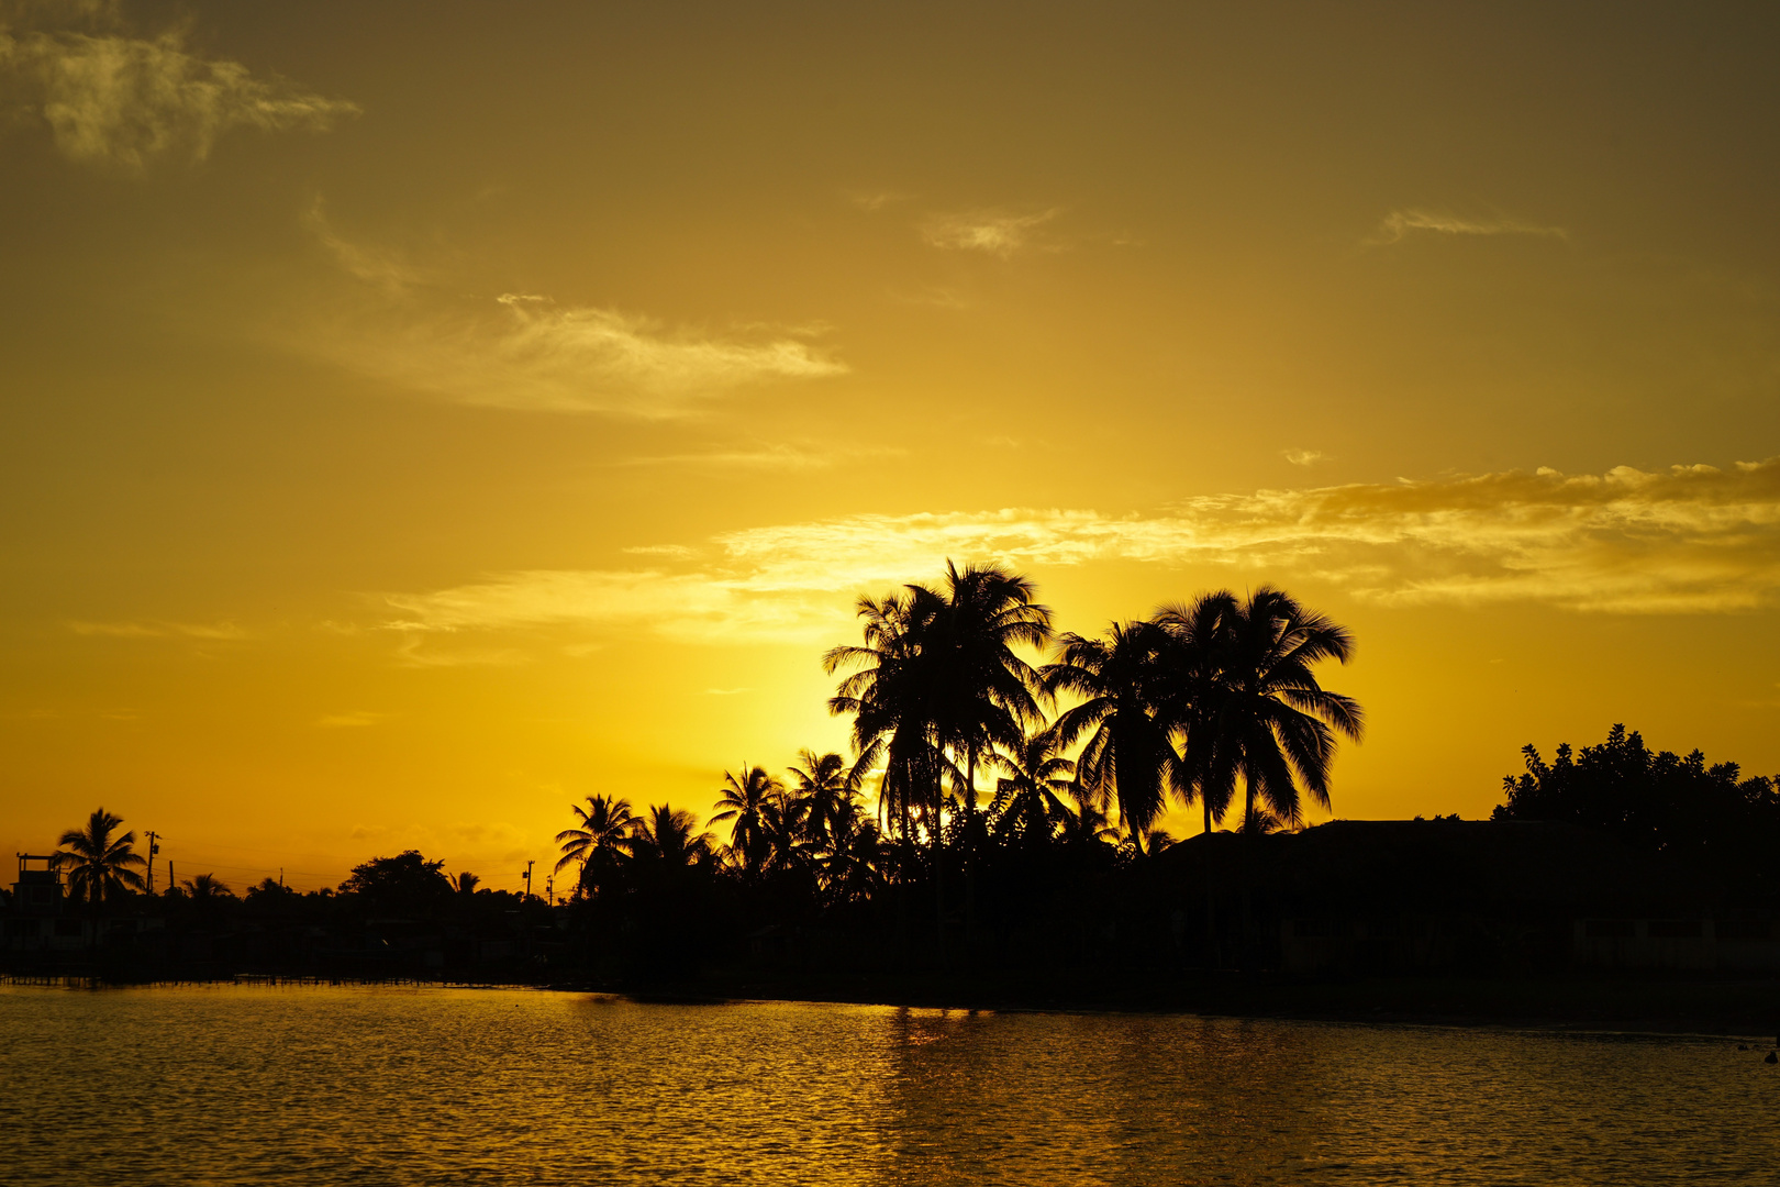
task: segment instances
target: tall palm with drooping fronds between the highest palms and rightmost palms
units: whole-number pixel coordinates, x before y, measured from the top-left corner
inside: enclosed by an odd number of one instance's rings
[[[1052,692],[1082,698],[1054,726],[1063,746],[1088,735],[1075,758],[1077,779],[1096,806],[1118,806],[1137,852],[1166,788],[1178,781],[1169,726],[1157,715],[1164,646],[1166,635],[1152,623],[1112,623],[1105,639],[1064,635],[1059,660],[1045,667]]]

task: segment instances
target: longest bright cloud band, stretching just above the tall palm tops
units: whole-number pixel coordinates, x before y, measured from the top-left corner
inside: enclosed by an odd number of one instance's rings
[[[1315,578],[1380,605],[1755,610],[1780,602],[1780,459],[1212,495],[1148,516],[849,516],[728,532],[710,545],[712,559],[689,571],[527,571],[390,594],[400,618],[386,625],[417,641],[586,628],[700,644],[819,642],[847,632],[851,594],[927,580],[947,557]]]

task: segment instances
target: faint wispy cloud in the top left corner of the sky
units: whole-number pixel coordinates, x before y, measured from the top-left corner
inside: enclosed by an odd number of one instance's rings
[[[116,32],[109,12],[57,9],[98,32],[0,27],[0,75],[23,91],[69,160],[141,173],[171,153],[203,160],[231,128],[322,132],[360,112],[278,77],[256,78],[240,62],[187,53],[180,30],[150,39]]]

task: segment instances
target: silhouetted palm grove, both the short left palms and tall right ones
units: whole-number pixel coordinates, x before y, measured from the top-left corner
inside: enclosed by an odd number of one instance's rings
[[[1205,831],[1237,795],[1239,831],[1298,826],[1307,797],[1330,808],[1337,742],[1363,726],[1314,671],[1346,662],[1351,634],[1267,585],[1089,639],[1057,635],[1029,578],[947,564],[942,584],[862,598],[858,614],[863,644],[822,657],[846,673],[829,710],[853,717],[853,762],[806,749],[789,781],[746,763],[726,772],[707,822],[728,826],[726,844],[687,812],[637,817],[625,799],[589,797],[557,835],[557,870],[578,867],[578,892],[595,895],[637,863],[799,876],[842,902],[926,867],[943,900],[947,852],[1155,852],[1169,844],[1155,828],[1169,799],[1198,806]],[[1047,651],[1045,664],[1022,655]]]

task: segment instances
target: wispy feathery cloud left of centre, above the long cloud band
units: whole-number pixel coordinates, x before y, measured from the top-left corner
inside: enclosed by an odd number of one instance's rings
[[[322,349],[356,370],[484,408],[671,418],[737,388],[847,372],[792,331],[669,327],[536,294],[502,294],[470,313],[367,320],[388,327],[342,333]]]

